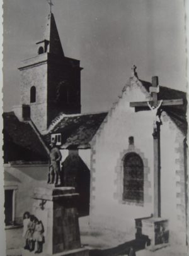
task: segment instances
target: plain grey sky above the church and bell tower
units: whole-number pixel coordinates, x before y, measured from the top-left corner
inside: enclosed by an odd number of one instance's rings
[[[81,60],[82,111],[110,109],[136,64],[139,78],[186,91],[183,0],[54,0],[64,53]],[[4,110],[20,103],[21,60],[36,55],[49,5],[4,0]]]

